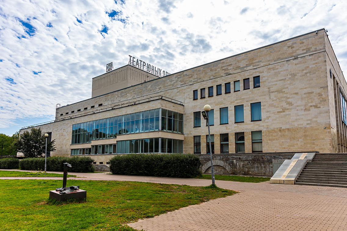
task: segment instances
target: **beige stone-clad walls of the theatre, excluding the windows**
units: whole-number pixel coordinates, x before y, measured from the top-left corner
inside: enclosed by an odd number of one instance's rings
[[[263,153],[346,152],[347,126],[340,92],[347,99],[347,84],[324,29],[165,77],[154,76],[146,82],[141,79],[139,84],[126,77],[115,80],[115,76],[126,70],[138,71],[141,75],[144,72],[127,65],[93,78],[95,97],[58,108],[56,122],[41,125],[56,139],[57,151],[52,155],[68,156],[70,149],[151,137],[184,140],[183,152],[194,153],[194,136],[200,136],[200,152],[206,154],[208,128],[200,113],[205,104],[214,110],[214,125],[210,130],[216,154],[221,153],[220,134],[228,134],[228,152],[236,153],[236,132],[244,132],[245,153],[254,152],[255,142],[258,142],[257,148],[262,144]],[[244,89],[245,79],[249,79],[249,89]],[[260,80],[260,86],[254,87],[255,79]],[[122,81],[126,82],[124,86]],[[234,91],[236,81],[239,81],[239,91]],[[118,83],[120,87],[116,91]],[[230,93],[226,92],[228,83]],[[217,95],[219,85],[221,94]],[[210,97],[209,87],[213,88]],[[201,97],[204,88],[206,96]],[[195,100],[194,91],[197,91]],[[261,105],[261,118],[254,121],[253,103]],[[243,105],[241,122],[235,119],[238,105]],[[72,126],[76,123],[159,108],[183,114],[183,134],[150,131],[71,144]],[[221,124],[221,108],[227,108],[227,123]],[[201,126],[194,127],[194,112],[200,113]],[[254,131],[261,131],[260,140],[254,137],[252,140]],[[93,155],[93,158],[105,163],[112,156]]]

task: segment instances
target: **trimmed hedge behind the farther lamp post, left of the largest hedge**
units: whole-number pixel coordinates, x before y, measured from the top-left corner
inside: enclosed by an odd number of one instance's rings
[[[46,161],[46,171],[64,171],[64,164],[71,164],[71,168],[67,168],[68,172],[94,172],[92,163],[94,159],[90,156],[49,156]],[[44,170],[44,158],[25,158],[19,162],[20,169],[22,170]]]

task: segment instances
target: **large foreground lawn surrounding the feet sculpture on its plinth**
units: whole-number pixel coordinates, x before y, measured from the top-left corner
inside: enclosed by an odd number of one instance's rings
[[[125,225],[236,192],[211,187],[129,181],[68,180],[86,202],[59,203],[49,190],[61,180],[1,180],[0,230],[134,230]]]

